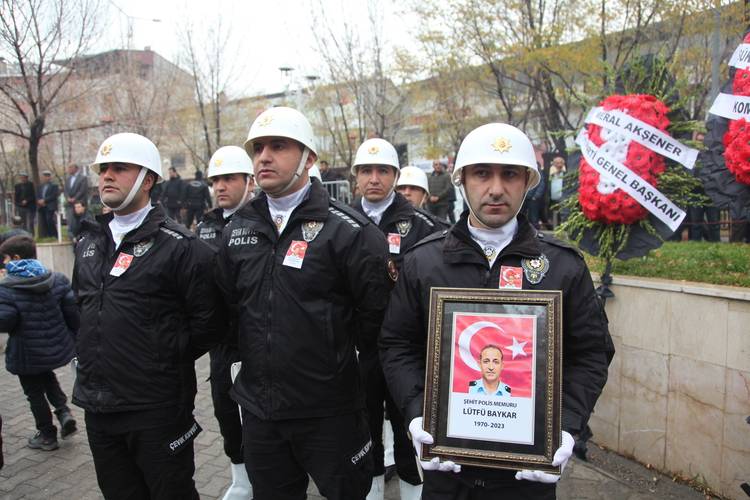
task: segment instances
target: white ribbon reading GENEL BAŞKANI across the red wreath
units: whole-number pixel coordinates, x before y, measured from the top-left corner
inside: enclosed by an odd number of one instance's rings
[[[632,196],[643,208],[654,214],[672,231],[676,231],[680,227],[685,218],[685,212],[669,201],[658,189],[622,163],[612,160],[602,153],[589,140],[584,130],[581,130],[576,137],[576,143],[581,146],[586,162],[599,172],[599,175],[603,175],[607,180],[614,182],[618,188]]]

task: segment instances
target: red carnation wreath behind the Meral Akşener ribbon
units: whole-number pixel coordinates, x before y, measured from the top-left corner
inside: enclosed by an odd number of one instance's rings
[[[750,87],[748,88],[750,89]],[[613,109],[622,111],[663,132],[666,132],[669,126],[669,119],[667,118],[669,108],[652,95],[613,95],[604,99],[600,106],[607,111]],[[748,128],[750,129],[750,127]],[[602,135],[610,137],[612,135],[609,131],[602,131],[602,127],[599,125],[593,124],[586,125],[586,131],[589,140],[597,147],[602,147],[607,142]],[[618,147],[627,147],[627,153],[622,149],[620,150],[620,156],[624,157],[622,163],[652,186],[658,185],[659,176],[666,168],[664,158],[661,155],[654,153],[636,141],[630,141],[629,144],[627,142],[620,143],[613,147],[615,150]],[[747,150],[750,153],[750,144],[748,144]],[[750,157],[750,154],[748,157]],[[599,189],[601,184],[599,172],[594,170],[584,158],[581,158],[578,199],[583,214],[589,220],[605,224],[633,224],[648,216],[648,211],[630,195],[619,189],[607,193],[607,189]]]

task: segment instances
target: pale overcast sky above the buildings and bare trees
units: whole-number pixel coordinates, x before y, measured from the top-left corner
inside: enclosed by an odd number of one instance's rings
[[[109,23],[97,49],[125,47],[130,22],[132,48],[150,46],[175,61],[182,53],[178,36],[182,26],[192,23],[195,31],[200,32],[221,16],[224,26],[231,25],[233,46],[239,52],[237,61],[241,71],[232,93],[253,95],[279,91],[286,84],[278,70],[280,66],[294,67],[295,73],[301,76],[323,76],[324,68],[312,33],[313,29],[323,28],[313,26],[310,20],[311,2],[322,3],[335,28],[347,19],[365,34],[370,29],[366,0],[103,0]],[[396,6],[393,0],[381,0],[378,7],[382,11],[388,44],[408,44],[410,16],[404,15],[403,8]]]

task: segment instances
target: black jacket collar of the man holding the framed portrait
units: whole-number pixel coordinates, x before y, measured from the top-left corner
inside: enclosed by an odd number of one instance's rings
[[[481,264],[487,266],[487,259],[482,253],[482,249],[471,237],[468,227],[469,211],[466,210],[461,214],[461,218],[451,228],[443,245],[443,258],[448,264],[458,264],[469,262],[472,264]],[[507,247],[500,252],[497,260],[508,255],[518,255],[523,258],[534,258],[541,255],[542,249],[539,246],[537,231],[534,226],[522,214],[518,215],[518,232]]]

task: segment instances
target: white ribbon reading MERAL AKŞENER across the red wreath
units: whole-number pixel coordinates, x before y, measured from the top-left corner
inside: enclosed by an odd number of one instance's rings
[[[596,107],[589,111],[586,123],[620,132],[625,137],[642,144],[651,151],[681,163],[686,168],[693,168],[698,158],[698,150],[689,148],[674,137],[670,137],[656,127],[644,123],[627,113],[617,110],[606,111]]]

